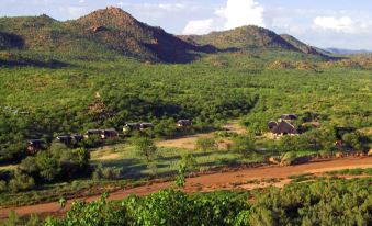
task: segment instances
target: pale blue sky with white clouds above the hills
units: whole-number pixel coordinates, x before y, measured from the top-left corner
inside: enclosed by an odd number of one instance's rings
[[[317,47],[372,50],[370,0],[0,0],[0,16],[65,21],[109,5],[173,34],[259,25]]]

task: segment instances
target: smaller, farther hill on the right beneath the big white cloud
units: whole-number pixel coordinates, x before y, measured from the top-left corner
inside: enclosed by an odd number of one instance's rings
[[[212,32],[206,35],[184,35],[180,37],[194,44],[213,45],[218,48],[279,48],[304,54],[325,55],[320,49],[308,46],[291,35],[278,35],[270,30],[253,25],[224,32]]]

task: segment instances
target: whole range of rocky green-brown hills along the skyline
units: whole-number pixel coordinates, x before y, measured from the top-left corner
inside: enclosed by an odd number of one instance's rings
[[[202,54],[250,48],[327,55],[291,35],[278,35],[258,26],[176,36],[112,7],[66,22],[45,14],[0,19],[0,50],[21,49],[84,57],[108,53],[148,61],[188,63]]]

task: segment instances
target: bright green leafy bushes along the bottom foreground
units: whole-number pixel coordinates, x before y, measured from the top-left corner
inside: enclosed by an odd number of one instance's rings
[[[103,195],[75,202],[64,218],[47,218],[45,225],[371,225],[371,182],[319,179],[255,194],[165,190],[121,202]]]

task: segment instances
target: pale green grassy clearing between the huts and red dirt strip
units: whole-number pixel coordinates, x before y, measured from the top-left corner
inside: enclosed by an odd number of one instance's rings
[[[202,171],[211,167],[221,167],[232,163],[249,163],[256,161],[251,158],[241,158],[240,155],[228,150],[190,150],[182,148],[159,147],[157,156],[151,165],[156,166],[149,169],[149,165],[144,158],[138,156],[136,150],[127,144],[119,144],[103,149],[92,151],[92,165],[102,163],[103,167],[122,167],[124,178],[138,178],[146,176],[169,176],[174,174],[182,155],[191,152],[194,156],[195,165],[193,170]],[[116,154],[114,159],[104,159],[104,155]]]

